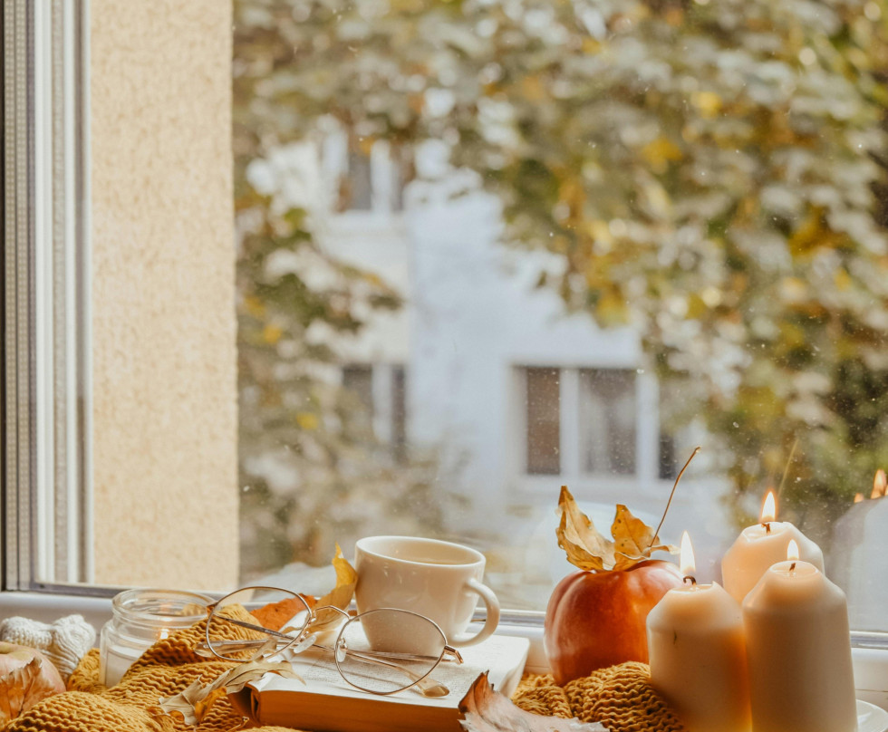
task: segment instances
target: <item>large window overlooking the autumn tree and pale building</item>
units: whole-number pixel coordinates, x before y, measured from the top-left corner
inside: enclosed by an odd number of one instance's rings
[[[38,5],[4,9],[8,586],[309,583],[421,533],[539,611],[560,484],[657,518],[702,443],[664,529],[701,577],[782,483],[888,631],[881,5]]]

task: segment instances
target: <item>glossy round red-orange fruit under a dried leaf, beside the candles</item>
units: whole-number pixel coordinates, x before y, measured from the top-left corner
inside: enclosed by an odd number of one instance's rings
[[[555,683],[563,686],[627,660],[647,663],[648,612],[681,581],[675,564],[657,559],[568,574],[545,611],[545,655]]]

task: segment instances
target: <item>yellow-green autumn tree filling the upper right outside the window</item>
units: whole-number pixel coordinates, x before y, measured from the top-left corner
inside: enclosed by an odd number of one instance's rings
[[[448,142],[562,259],[539,285],[681,384],[739,521],[791,451],[786,506],[826,523],[888,461],[881,0],[237,8],[252,140]]]

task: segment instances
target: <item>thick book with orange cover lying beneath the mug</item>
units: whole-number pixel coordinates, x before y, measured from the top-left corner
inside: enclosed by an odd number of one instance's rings
[[[316,732],[461,732],[459,702],[487,672],[494,689],[510,696],[521,679],[530,642],[493,635],[459,649],[463,663],[441,661],[431,676],[445,684],[446,697],[429,698],[416,689],[382,696],[349,686],[328,651],[308,650],[293,660],[304,683],[265,674],[231,695],[257,724]]]

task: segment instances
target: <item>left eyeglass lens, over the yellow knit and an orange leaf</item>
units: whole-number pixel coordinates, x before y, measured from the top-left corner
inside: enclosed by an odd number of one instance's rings
[[[252,660],[298,640],[310,611],[302,597],[274,587],[246,587],[217,602],[207,644],[226,660]]]

